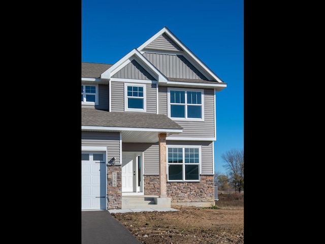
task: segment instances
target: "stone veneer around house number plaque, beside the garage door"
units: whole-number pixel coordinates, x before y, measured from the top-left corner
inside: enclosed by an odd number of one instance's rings
[[[113,187],[112,172],[117,172],[116,187]],[[122,208],[122,166],[113,165],[107,167],[107,209]]]

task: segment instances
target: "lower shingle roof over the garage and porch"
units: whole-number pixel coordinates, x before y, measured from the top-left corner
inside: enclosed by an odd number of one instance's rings
[[[108,112],[93,108],[81,109],[81,125],[150,129],[183,129],[165,114]]]

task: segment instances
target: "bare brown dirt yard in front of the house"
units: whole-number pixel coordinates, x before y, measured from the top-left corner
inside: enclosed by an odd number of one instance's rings
[[[112,214],[144,244],[244,243],[243,196],[219,195],[216,207]]]

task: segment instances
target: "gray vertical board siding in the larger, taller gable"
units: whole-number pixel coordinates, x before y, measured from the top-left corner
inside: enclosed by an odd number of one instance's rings
[[[183,55],[150,52],[143,55],[168,78],[208,80]]]

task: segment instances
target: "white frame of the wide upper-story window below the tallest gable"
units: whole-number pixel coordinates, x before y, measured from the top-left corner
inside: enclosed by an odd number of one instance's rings
[[[172,117],[171,116],[171,90],[180,90],[185,92],[185,118],[180,117]],[[202,108],[202,118],[188,118],[187,117],[187,92],[201,92],[201,108]],[[199,106],[199,105],[198,105]],[[168,117],[172,120],[178,121],[204,121],[204,89],[192,89],[192,88],[176,88],[176,87],[169,87],[167,88],[167,112]]]

